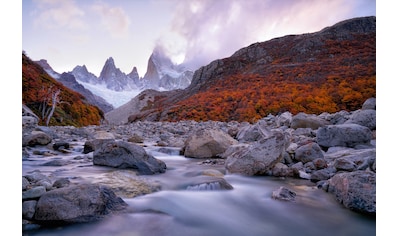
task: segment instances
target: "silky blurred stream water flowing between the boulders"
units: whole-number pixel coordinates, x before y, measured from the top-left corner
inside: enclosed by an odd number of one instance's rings
[[[73,181],[106,178],[112,168],[76,161],[76,153],[57,156],[73,163],[65,166],[40,166],[54,157],[29,158],[23,161],[23,174],[40,169],[53,177],[71,177]],[[308,180],[274,177],[245,177],[226,174],[223,178],[233,190],[218,190],[217,183],[198,184],[204,170],[223,170],[206,165],[203,160],[147,151],[163,160],[168,169],[163,174],[143,176],[158,183],[162,190],[134,198],[124,197],[128,212],[88,224],[40,229],[24,235],[85,236],[367,236],[376,235],[375,218],[345,209],[334,197],[317,189]],[[74,161],[72,161],[74,160]],[[126,170],[117,170],[129,174]],[[124,172],[123,172],[124,171]],[[77,177],[76,177],[77,176]],[[95,182],[95,181],[94,181]],[[285,186],[296,192],[294,202],[273,199],[272,192]]]

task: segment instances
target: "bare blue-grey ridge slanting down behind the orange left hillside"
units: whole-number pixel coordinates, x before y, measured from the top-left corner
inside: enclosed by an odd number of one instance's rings
[[[90,90],[79,84],[75,77],[70,73],[62,73],[58,79],[66,87],[82,94],[88,103],[99,107],[104,113],[111,111],[114,107],[105,101],[102,97],[93,94]]]

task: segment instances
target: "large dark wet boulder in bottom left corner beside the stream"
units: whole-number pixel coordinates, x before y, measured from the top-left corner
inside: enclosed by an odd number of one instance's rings
[[[42,195],[34,219],[51,225],[91,222],[126,207],[127,204],[108,187],[79,184]]]

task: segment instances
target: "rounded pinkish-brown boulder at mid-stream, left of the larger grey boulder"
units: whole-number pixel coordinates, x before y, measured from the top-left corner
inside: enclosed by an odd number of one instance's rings
[[[229,146],[237,143],[237,140],[221,130],[198,130],[186,140],[184,156],[194,158],[219,157]]]

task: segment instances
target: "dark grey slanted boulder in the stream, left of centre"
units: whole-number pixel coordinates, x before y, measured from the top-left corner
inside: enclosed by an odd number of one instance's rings
[[[93,164],[136,169],[139,174],[164,173],[166,164],[148,154],[143,147],[125,142],[104,140],[93,153]]]

